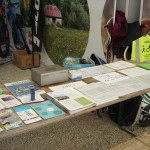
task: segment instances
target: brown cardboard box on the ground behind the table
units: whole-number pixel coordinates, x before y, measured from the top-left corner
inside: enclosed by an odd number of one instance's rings
[[[32,54],[28,54],[26,50],[15,50],[13,53],[13,64],[21,69],[29,69],[33,67]],[[40,66],[39,54],[34,53],[34,67]]]

